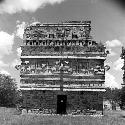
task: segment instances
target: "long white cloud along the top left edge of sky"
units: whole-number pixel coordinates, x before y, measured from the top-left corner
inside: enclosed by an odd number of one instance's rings
[[[17,13],[21,11],[35,12],[46,4],[61,3],[64,0],[5,0],[0,4],[0,13]]]

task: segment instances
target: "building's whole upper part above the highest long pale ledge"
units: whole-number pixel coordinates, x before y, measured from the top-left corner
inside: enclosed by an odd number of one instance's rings
[[[91,21],[33,23],[24,30],[25,56],[106,57],[105,46],[92,40]]]

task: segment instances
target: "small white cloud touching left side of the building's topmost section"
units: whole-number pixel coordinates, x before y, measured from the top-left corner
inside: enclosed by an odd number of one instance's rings
[[[20,23],[19,21],[17,21],[17,30],[16,30],[16,36],[18,36],[19,38],[23,39],[23,34],[24,34],[24,28],[26,26],[25,22]]]

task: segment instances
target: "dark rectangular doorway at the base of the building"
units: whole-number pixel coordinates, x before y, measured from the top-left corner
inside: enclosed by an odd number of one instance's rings
[[[57,114],[66,114],[66,95],[57,95]]]

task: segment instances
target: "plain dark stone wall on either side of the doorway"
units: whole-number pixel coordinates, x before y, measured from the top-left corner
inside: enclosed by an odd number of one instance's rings
[[[22,91],[23,106],[39,109],[57,109],[57,95],[67,95],[66,110],[103,108],[103,92],[87,91]]]

